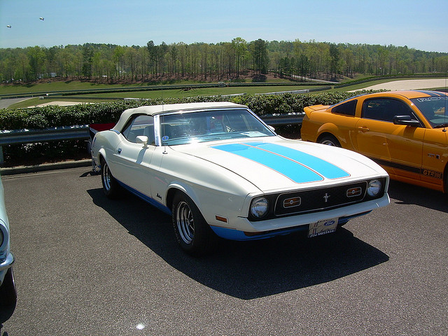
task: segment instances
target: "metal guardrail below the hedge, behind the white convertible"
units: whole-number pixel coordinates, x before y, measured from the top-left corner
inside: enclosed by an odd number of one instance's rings
[[[261,116],[271,126],[302,125],[303,114]],[[54,127],[45,130],[0,131],[0,165],[3,165],[3,146],[36,144],[38,142],[90,139],[89,125]]]

